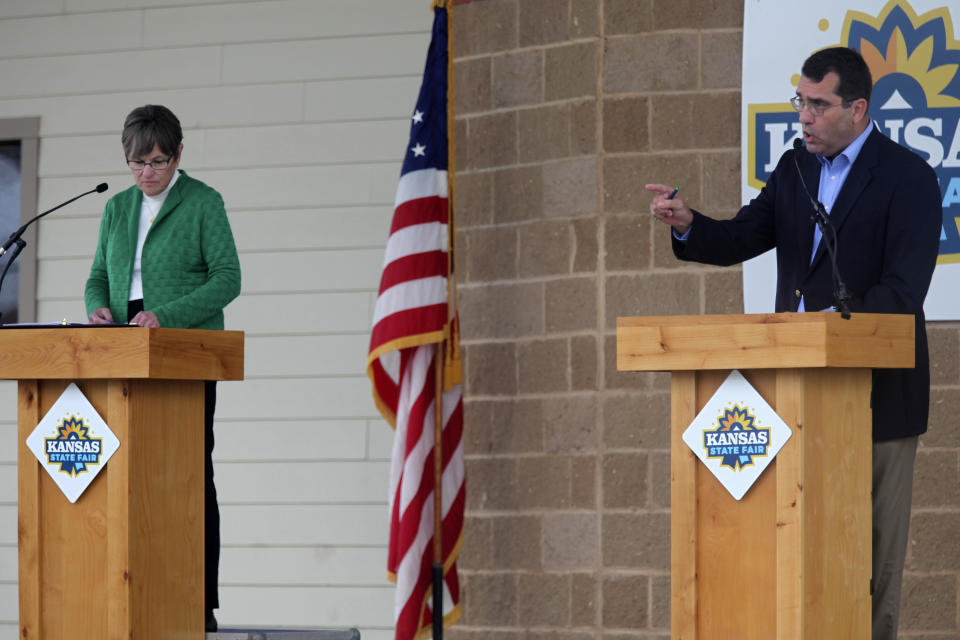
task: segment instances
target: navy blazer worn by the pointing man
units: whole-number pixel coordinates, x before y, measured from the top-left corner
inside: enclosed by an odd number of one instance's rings
[[[777,250],[776,311],[834,304],[830,258],[823,242],[813,260],[813,208],[793,154],[814,197],[820,163],[806,150],[789,150],[760,194],[731,220],[694,211],[681,260],[733,265]],[[837,264],[851,296],[850,310],[911,313],[916,318],[916,366],[873,372],[875,441],[927,430],[930,364],[923,301],[936,266],[942,225],[940,187],[918,155],[874,129],[850,168],[830,219],[837,230]]]

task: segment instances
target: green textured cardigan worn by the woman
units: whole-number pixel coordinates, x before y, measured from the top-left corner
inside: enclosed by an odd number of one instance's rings
[[[110,198],[87,279],[87,314],[109,307],[127,322],[127,302],[143,193]],[[223,308],[240,293],[240,261],[223,198],[180,171],[147,232],[141,256],[143,308],[161,327],[223,329]]]

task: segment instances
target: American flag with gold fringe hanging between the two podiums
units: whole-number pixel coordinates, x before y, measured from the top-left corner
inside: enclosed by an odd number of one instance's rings
[[[444,4],[439,2],[436,4]],[[387,571],[397,583],[395,638],[430,634],[434,538],[434,358],[445,338],[443,391],[443,620],[460,617],[457,556],[463,539],[463,402],[451,308],[447,157],[447,10],[434,7],[433,36],[410,126],[387,240],[367,359],[377,408],[395,430],[390,468]]]

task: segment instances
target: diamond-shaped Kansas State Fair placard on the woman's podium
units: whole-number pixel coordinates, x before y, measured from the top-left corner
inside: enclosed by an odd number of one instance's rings
[[[120,441],[72,382],[27,437],[27,447],[70,502],[76,502]]]

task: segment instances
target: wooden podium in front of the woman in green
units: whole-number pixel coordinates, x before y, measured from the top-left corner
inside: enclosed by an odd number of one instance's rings
[[[20,637],[203,638],[204,380],[243,378],[243,333],[0,330],[19,380]],[[120,440],[71,504],[25,441],[70,382]]]

